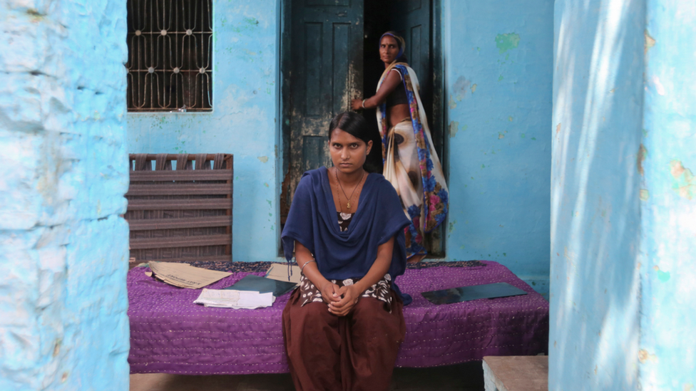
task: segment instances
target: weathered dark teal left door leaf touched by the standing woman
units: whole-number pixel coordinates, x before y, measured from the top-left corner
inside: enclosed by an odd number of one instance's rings
[[[290,122],[282,195],[286,208],[302,173],[331,167],[329,122],[350,110],[350,99],[362,94],[363,61],[363,0],[289,1],[291,14],[285,20],[291,29],[285,43],[290,73],[284,80],[290,101],[285,100],[283,110]]]

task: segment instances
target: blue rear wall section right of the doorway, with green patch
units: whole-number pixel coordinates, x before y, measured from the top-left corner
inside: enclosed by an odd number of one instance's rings
[[[548,292],[553,1],[443,2],[447,256]]]

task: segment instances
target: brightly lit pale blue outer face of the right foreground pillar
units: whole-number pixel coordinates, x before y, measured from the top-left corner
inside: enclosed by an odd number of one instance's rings
[[[643,390],[696,387],[696,3],[647,1],[642,161]]]

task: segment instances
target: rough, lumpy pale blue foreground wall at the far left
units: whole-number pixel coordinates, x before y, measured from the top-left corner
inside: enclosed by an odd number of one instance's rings
[[[127,390],[126,5],[0,2],[0,390]]]

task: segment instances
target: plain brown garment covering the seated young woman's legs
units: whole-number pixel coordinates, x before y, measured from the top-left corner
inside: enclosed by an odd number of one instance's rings
[[[389,390],[404,341],[404,305],[391,291],[384,301],[362,297],[347,316],[329,313],[326,303],[302,306],[295,289],[282,313],[283,339],[297,391]]]

